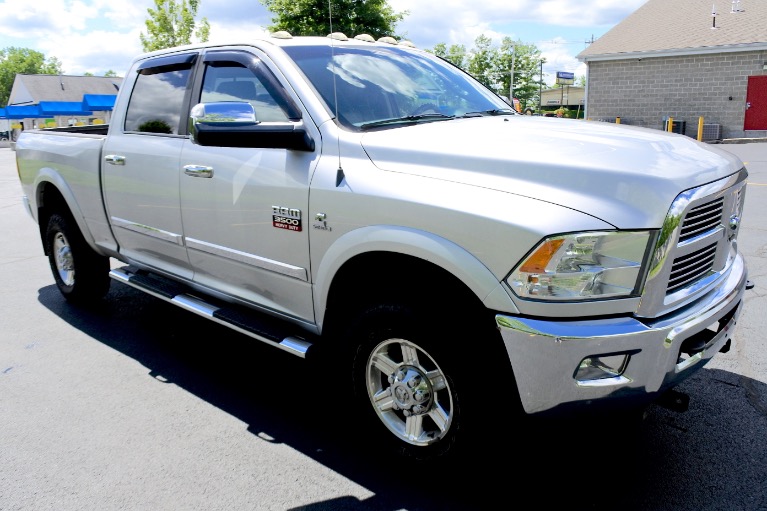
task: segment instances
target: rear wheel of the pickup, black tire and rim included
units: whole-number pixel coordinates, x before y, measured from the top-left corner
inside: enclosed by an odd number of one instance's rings
[[[109,258],[93,251],[70,216],[51,215],[45,248],[56,286],[68,301],[93,302],[109,291]]]

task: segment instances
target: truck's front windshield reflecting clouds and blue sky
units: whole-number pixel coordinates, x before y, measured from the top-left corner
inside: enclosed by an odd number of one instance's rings
[[[337,121],[352,130],[512,113],[471,76],[427,53],[357,46],[285,51],[337,113]]]

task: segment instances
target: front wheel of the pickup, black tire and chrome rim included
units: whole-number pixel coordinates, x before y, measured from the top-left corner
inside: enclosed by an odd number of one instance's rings
[[[366,419],[359,429],[365,444],[425,463],[457,459],[487,440],[479,427],[488,413],[482,401],[498,373],[479,374],[460,353],[488,346],[482,341],[492,339],[478,339],[480,328],[467,334],[446,317],[456,318],[446,311],[378,305],[350,328],[347,342],[356,347],[354,390]],[[510,372],[502,374],[513,381]]]

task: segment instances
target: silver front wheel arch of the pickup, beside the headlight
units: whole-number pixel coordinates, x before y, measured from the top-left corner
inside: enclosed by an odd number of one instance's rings
[[[339,238],[324,254],[315,279],[320,329],[340,310],[385,294],[419,295],[474,311],[488,307],[516,312],[499,279],[462,247],[432,233],[398,226],[370,226]],[[452,300],[452,299],[451,299]],[[459,302],[460,300],[460,302]],[[444,303],[444,302],[443,302]]]

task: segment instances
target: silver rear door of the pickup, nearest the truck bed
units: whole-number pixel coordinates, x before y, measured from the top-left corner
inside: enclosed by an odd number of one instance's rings
[[[179,158],[197,53],[141,63],[126,77],[127,109],[118,110],[104,145],[104,201],[120,252],[141,264],[191,278],[183,239]],[[124,114],[120,113],[124,112]]]

